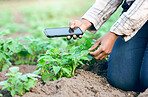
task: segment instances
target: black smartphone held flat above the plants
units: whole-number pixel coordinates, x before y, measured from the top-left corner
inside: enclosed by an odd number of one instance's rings
[[[48,38],[65,37],[65,36],[72,36],[72,35],[83,35],[83,32],[80,28],[73,30],[70,27],[48,28],[44,30],[44,33]]]

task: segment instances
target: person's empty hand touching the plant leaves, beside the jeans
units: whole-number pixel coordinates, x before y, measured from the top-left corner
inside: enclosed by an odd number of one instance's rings
[[[111,53],[113,45],[118,37],[119,36],[112,32],[106,33],[104,36],[99,38],[96,43],[89,49],[89,54],[97,60],[106,58]],[[98,47],[99,45],[100,47]],[[92,50],[95,50],[97,47],[98,49],[92,52]]]

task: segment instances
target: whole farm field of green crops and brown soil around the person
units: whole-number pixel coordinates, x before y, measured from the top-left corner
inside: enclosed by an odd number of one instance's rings
[[[109,31],[121,8],[96,33],[82,39],[47,38],[45,28],[68,27],[95,0],[0,0],[0,96],[146,97],[106,80],[107,59],[88,49]]]

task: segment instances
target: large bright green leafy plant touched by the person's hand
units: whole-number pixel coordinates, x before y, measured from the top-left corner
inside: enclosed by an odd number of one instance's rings
[[[41,55],[37,70],[40,70],[42,80],[46,82],[74,76],[76,67],[81,66],[83,60],[89,60],[87,57],[89,51],[82,48],[82,46],[73,47],[68,51],[54,48]]]

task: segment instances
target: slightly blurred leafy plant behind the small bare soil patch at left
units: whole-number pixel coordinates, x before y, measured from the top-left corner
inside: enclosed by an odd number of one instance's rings
[[[6,39],[4,48],[11,52],[10,61],[15,64],[36,64],[37,56],[51,48],[50,42],[34,37],[20,37],[18,39]]]

